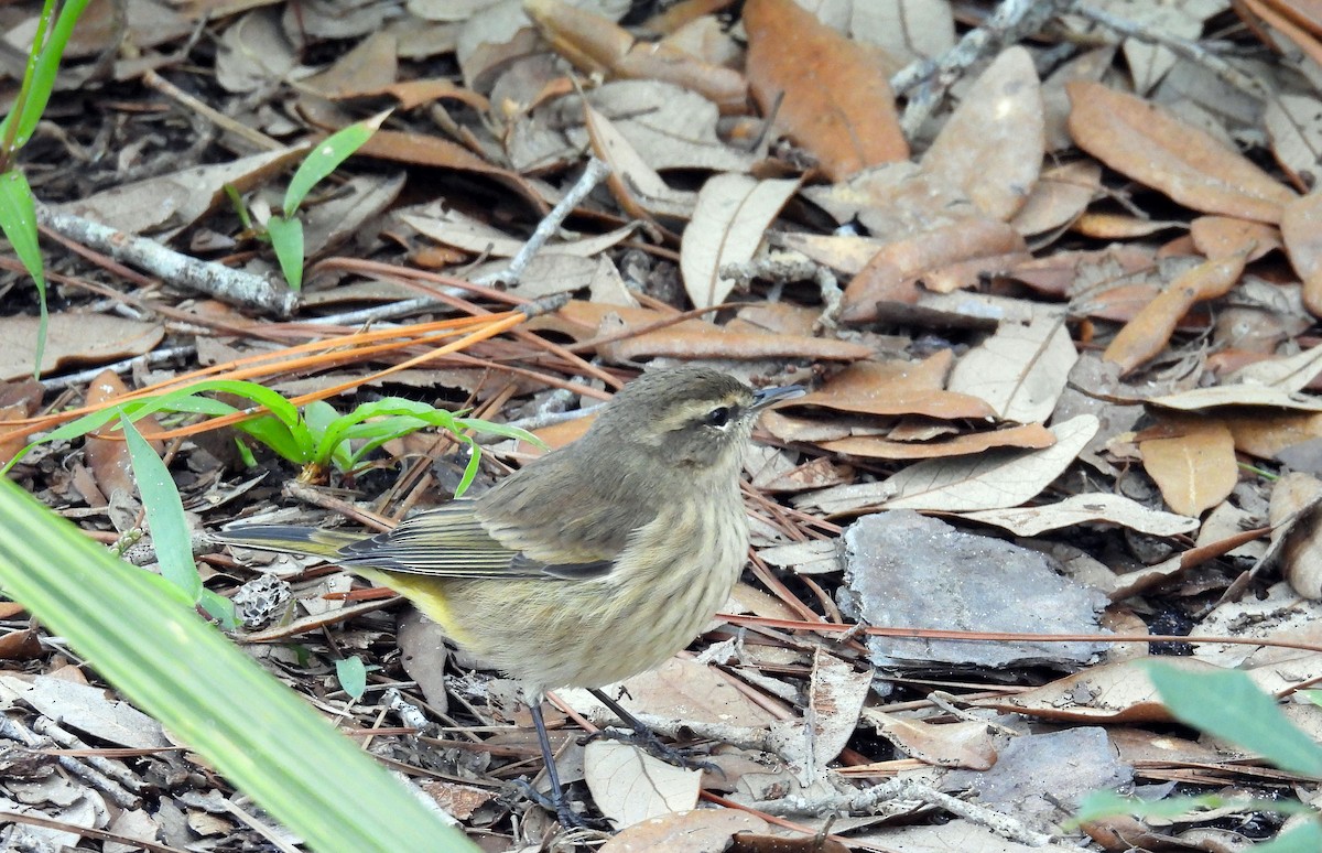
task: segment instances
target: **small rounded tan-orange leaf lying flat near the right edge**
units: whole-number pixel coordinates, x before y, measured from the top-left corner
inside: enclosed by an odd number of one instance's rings
[[[1235,439],[1224,422],[1163,415],[1138,442],[1144,469],[1178,513],[1200,516],[1225,500],[1239,481]]]

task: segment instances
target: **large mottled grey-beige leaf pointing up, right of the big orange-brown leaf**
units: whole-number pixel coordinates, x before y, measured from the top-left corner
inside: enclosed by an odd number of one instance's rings
[[[1038,183],[1044,134],[1032,57],[1009,48],[965,94],[923,155],[923,171],[960,186],[988,217],[1009,222]]]

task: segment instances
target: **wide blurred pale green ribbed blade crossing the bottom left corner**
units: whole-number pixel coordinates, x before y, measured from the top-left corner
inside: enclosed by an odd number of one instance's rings
[[[0,586],[311,849],[477,850],[147,577],[0,479]]]

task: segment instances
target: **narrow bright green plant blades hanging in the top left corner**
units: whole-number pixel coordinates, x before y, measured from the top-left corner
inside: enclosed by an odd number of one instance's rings
[[[37,19],[37,32],[28,50],[28,65],[9,115],[0,122],[0,230],[13,247],[22,267],[37,286],[41,325],[33,358],[33,376],[41,373],[46,349],[46,276],[37,243],[37,202],[26,176],[15,165],[19,151],[32,139],[59,71],[59,60],[73,36],[74,25],[90,0],[69,0],[56,15],[56,0],[45,0]],[[54,26],[52,26],[54,19]]]

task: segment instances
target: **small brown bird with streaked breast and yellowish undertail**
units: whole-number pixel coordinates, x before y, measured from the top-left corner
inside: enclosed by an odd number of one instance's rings
[[[250,525],[215,538],[324,557],[387,586],[518,680],[558,816],[578,824],[542,694],[590,688],[623,714],[596,688],[660,665],[711,620],[748,550],[739,472],[754,422],[802,393],[701,366],[646,373],[579,440],[387,533]]]

